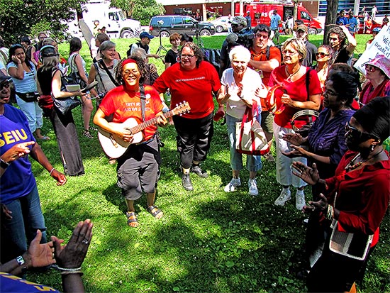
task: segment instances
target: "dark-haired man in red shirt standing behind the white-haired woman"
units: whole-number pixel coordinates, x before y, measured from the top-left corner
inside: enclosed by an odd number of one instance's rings
[[[279,67],[282,62],[282,53],[279,48],[269,45],[271,29],[268,26],[259,24],[253,29],[253,32],[255,33],[255,38],[252,41],[252,47],[249,49],[251,60],[248,67],[259,72],[263,84],[267,86],[272,70]],[[272,115],[272,109],[267,106],[265,99],[260,99],[260,101],[262,104],[262,129],[264,130],[269,147],[271,147],[272,135],[274,133],[272,129],[274,116]],[[271,153],[264,155],[264,157],[269,162],[274,161]]]

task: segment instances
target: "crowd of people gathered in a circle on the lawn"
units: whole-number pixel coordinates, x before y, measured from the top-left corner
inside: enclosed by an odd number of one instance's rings
[[[191,173],[201,178],[209,175],[201,163],[213,143],[214,110],[225,115],[232,179],[223,184],[223,190],[235,192],[241,186],[243,170],[243,154],[236,149],[237,128],[248,107],[257,108],[255,120],[269,148],[272,140],[276,147],[276,158],[271,153],[264,155],[270,164],[276,162],[275,180],[282,189],[274,204],[284,206],[291,199],[292,186],[296,209],[310,215],[305,243],[308,291],[350,291],[364,275],[390,202],[390,158],[383,147],[390,136],[390,60],[377,55],[367,62],[367,80],[362,86],[360,74],[350,66],[357,46],[355,28],[350,29],[351,21],[343,23],[344,18],[340,14],[340,26],[330,28],[328,45],[316,48],[308,41],[308,28],[300,24],[296,36],[277,48],[271,38],[274,32],[279,43],[277,13],[272,15],[270,27],[259,24],[253,30],[247,26],[248,18],[235,16],[230,21],[233,33],[221,49],[220,72],[188,35],[170,36],[172,49],[159,76],[155,65],[148,62],[150,57],[160,58],[150,53],[152,35],[141,33],[140,41],[130,45],[128,56],[121,60],[116,44],[96,31],[99,49],[88,73],[79,55],[81,40],[72,38],[69,67],[84,84],[96,80],[97,87],[91,92],[67,91],[57,43],[47,35],[38,35],[36,48],[26,38],[23,45],[11,45],[5,73],[0,68],[0,133],[4,138],[0,145],[1,271],[19,274],[28,267],[51,265],[54,253],[65,292],[82,291],[80,267],[91,241],[91,221],[79,223],[65,248],[54,236],[47,243],[28,156],[48,170],[57,185],[65,184],[66,176],[84,175],[72,111],[62,113],[53,99],[81,97],[83,135],[93,138],[89,121],[91,99],[96,96],[94,124],[108,133],[114,144],[124,145],[123,153],[110,157],[110,162],[117,162],[117,185],[131,227],[139,226],[134,203],[143,194],[147,211],[155,219],[164,216],[155,204],[155,194],[160,165],[164,164],[157,126],[169,125],[167,111],[178,104],[191,108],[171,121],[177,132],[182,187],[188,192],[194,190]],[[249,33],[252,38],[245,37]],[[37,53],[38,60],[31,61]],[[12,87],[20,109],[9,103]],[[170,109],[165,104],[166,93],[171,97]],[[38,144],[50,139],[40,133],[43,116],[50,119],[55,131],[63,172],[52,167]],[[147,121],[152,122],[143,123]],[[138,129],[141,126],[143,129]],[[247,155],[246,168],[248,193],[257,196],[261,189],[256,176],[262,169],[262,157]],[[313,194],[307,202],[306,184],[312,185]],[[350,235],[355,242],[340,244],[338,233]],[[335,248],[335,241],[343,249]],[[38,245],[46,258],[35,260],[27,243],[30,248]],[[71,253],[77,257],[70,258]],[[69,258],[72,261],[67,261]],[[321,282],[330,278],[334,282]]]

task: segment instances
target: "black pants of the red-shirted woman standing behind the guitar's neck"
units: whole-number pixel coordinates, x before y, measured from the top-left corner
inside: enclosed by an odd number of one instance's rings
[[[182,167],[188,169],[192,161],[206,160],[214,133],[213,113],[199,119],[173,116],[173,121],[177,131],[177,151],[180,153]]]

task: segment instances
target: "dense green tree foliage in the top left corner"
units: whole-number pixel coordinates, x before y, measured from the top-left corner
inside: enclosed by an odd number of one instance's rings
[[[65,38],[66,23],[74,18],[75,10],[87,0],[1,0],[1,36],[8,44],[18,43],[38,31],[49,32],[57,39]]]

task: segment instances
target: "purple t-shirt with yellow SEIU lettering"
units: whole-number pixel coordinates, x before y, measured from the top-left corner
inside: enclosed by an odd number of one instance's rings
[[[0,155],[13,145],[27,141],[35,141],[35,138],[28,127],[26,116],[21,110],[5,104],[4,114],[0,115]],[[30,149],[32,147],[29,146]],[[1,204],[9,204],[14,199],[26,196],[35,185],[28,156],[14,160],[0,178]]]

